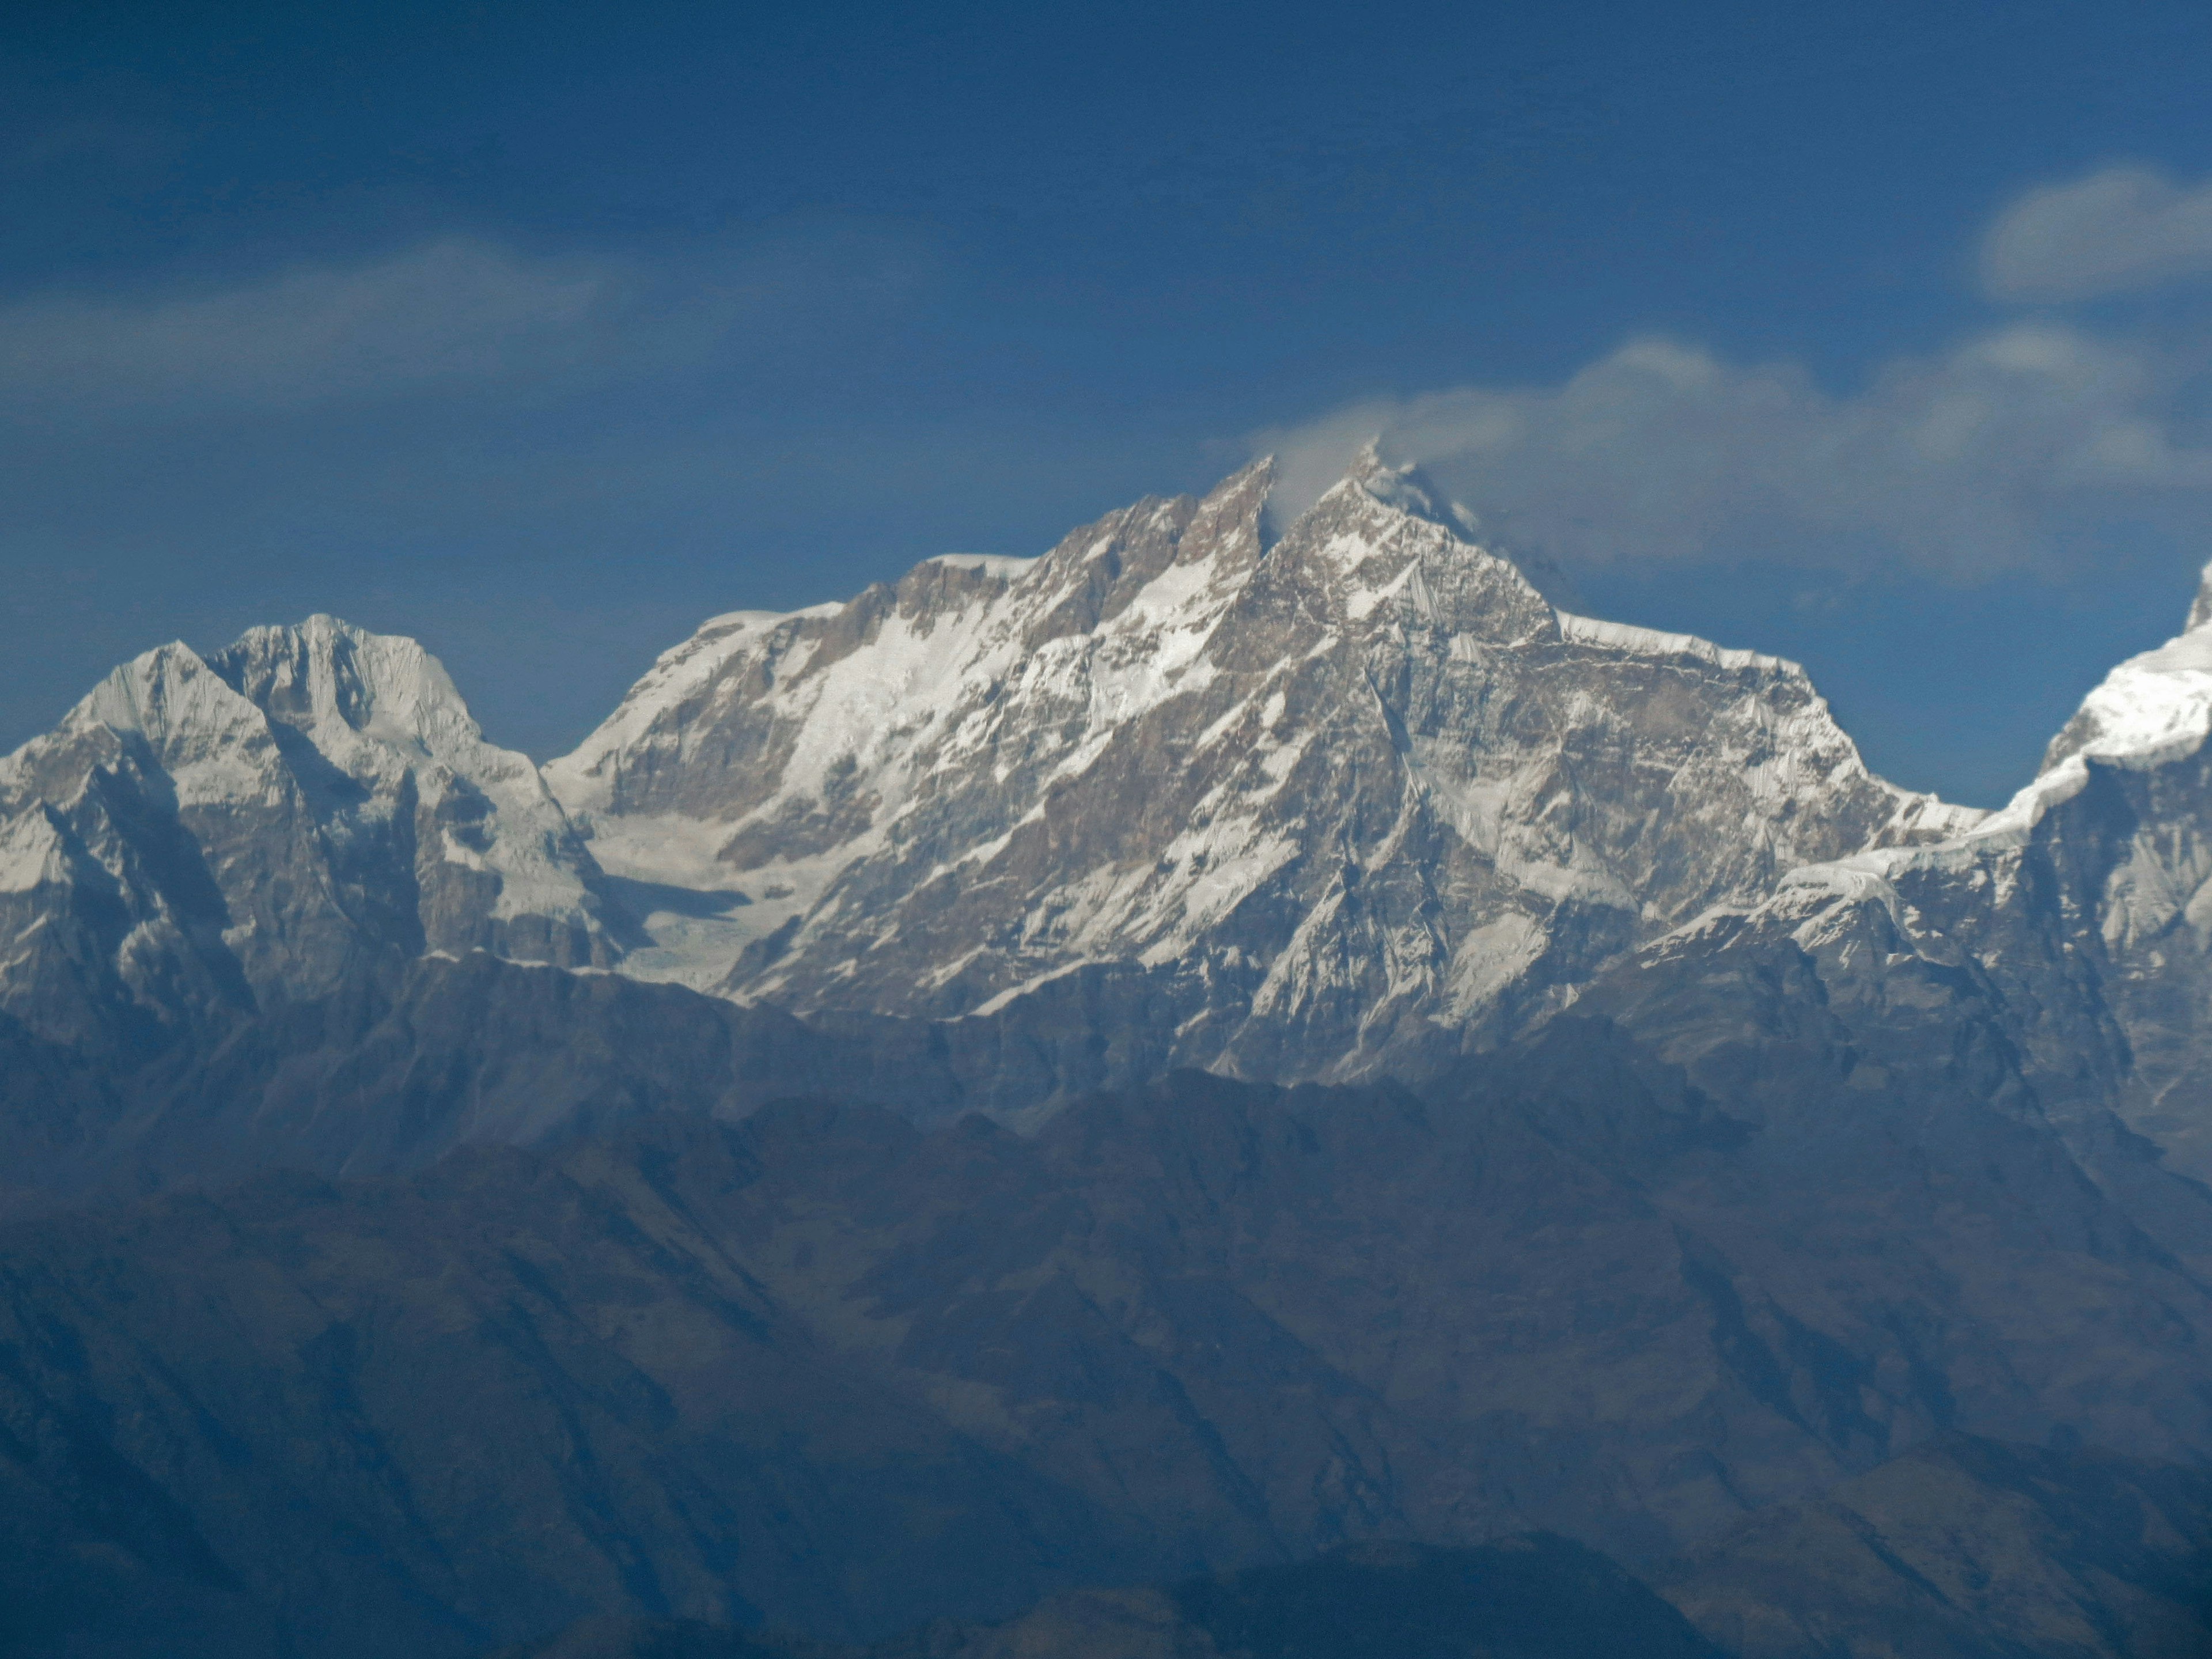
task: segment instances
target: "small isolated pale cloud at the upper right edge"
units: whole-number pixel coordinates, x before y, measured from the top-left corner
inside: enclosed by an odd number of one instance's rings
[[[2028,190],[1982,239],[1993,299],[2073,301],[2212,276],[2212,181],[2115,166]]]

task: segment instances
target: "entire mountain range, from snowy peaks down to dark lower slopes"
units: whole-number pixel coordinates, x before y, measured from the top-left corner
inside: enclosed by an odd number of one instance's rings
[[[2188,1650],[2212,577],[1984,814],[1272,482],[714,617],[542,768],[330,617],[0,761],[18,1646],[1564,1535],[1745,1657]]]

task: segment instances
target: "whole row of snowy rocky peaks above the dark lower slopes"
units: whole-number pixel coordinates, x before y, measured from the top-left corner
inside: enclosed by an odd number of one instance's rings
[[[896,1026],[1042,1108],[1433,1075],[1741,938],[2015,975],[2008,1040],[2139,1126],[2201,1086],[2203,606],[1980,814],[1871,776],[1796,664],[1562,608],[1378,451],[1267,535],[1274,482],[712,617],[542,772],[409,639],[161,646],[0,761],[0,1009],[84,1037],[480,949]]]

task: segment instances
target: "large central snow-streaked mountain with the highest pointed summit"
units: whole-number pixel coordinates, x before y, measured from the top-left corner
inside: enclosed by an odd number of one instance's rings
[[[1975,816],[1874,779],[1794,664],[1557,611],[1411,471],[1274,544],[1270,482],[708,622],[546,768],[646,900],[626,971],[938,1020],[1082,975],[1177,1062],[1343,1077]]]

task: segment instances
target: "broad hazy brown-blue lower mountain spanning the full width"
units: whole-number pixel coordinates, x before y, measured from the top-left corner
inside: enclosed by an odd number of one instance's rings
[[[1033,1137],[664,1117],[18,1225],[0,1604],[117,1655],[186,1604],[226,1655],[872,1639],[1352,1540],[1650,1564],[1951,1429],[2212,1447],[2212,1292],[2055,1135],[1750,1126],[1604,1033],[1528,1066],[1183,1073]]]

